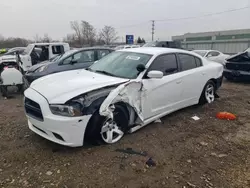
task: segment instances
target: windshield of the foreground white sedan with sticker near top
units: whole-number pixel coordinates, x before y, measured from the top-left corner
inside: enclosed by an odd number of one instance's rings
[[[88,70],[120,78],[135,79],[139,72],[137,65],[146,65],[152,55],[135,52],[113,52],[98,62],[94,63]]]

